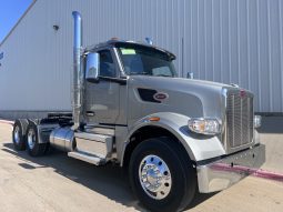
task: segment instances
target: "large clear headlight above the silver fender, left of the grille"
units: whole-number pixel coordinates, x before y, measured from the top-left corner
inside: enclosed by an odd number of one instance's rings
[[[192,132],[200,134],[219,134],[221,132],[221,124],[216,119],[190,119],[188,122],[189,129]]]

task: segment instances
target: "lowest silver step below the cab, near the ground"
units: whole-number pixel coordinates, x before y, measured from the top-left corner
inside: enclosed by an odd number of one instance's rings
[[[103,165],[107,163],[105,159],[101,159],[97,155],[89,154],[87,152],[79,152],[79,151],[73,151],[73,152],[68,152],[68,157],[94,164],[94,165]]]

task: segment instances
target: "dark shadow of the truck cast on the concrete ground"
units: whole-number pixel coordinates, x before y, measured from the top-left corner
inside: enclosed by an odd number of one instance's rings
[[[23,169],[53,168],[57,173],[108,196],[115,202],[134,208],[138,211],[146,211],[133,195],[127,173],[119,165],[110,163],[104,166],[95,166],[69,158],[65,153],[59,151],[54,151],[46,157],[32,158],[24,151],[14,151],[12,143],[4,143],[2,151],[13,154],[22,160],[22,163],[19,163],[19,165]],[[37,166],[31,162],[36,163]],[[215,193],[198,194],[186,210],[193,209],[214,194]]]

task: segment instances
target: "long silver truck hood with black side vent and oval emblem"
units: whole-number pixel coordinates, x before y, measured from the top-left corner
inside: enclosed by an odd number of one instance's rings
[[[132,75],[129,85],[130,91],[135,92],[134,97],[141,103],[139,107],[143,115],[153,112],[176,112],[193,118],[206,117],[221,120],[225,111],[223,90],[235,89],[211,81],[148,75]],[[140,89],[165,93],[168,98],[161,103],[143,101]],[[131,98],[131,94],[129,97]]]

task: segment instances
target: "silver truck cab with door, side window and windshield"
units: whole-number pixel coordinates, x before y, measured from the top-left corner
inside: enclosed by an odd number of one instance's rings
[[[139,102],[132,111],[129,103],[134,95],[140,101],[156,103],[154,90],[135,87],[135,81],[150,77],[175,78],[175,57],[159,48],[132,41],[110,40],[85,50],[84,117],[88,123],[123,124],[142,117]],[[90,69],[99,60],[99,73],[93,78]],[[91,64],[93,62],[94,64]],[[137,90],[138,89],[138,90]],[[150,95],[152,94],[152,95]],[[159,97],[162,98],[162,97]],[[145,101],[144,101],[145,100]],[[164,99],[165,100],[165,97]],[[139,110],[140,109],[140,110]],[[130,111],[129,111],[130,110]],[[158,110],[156,110],[158,111]],[[159,110],[160,112],[160,110]],[[95,115],[94,115],[95,114]]]

